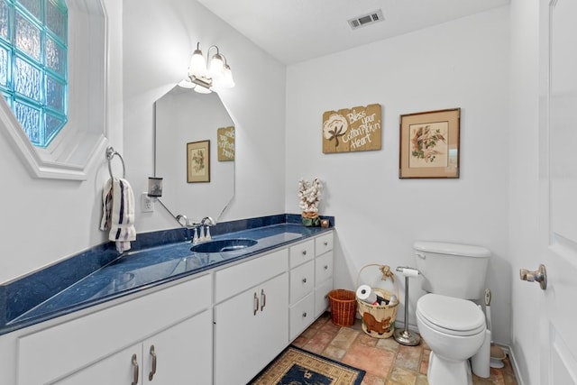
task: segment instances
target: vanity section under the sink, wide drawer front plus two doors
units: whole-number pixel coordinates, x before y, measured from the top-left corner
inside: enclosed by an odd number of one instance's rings
[[[215,272],[217,385],[247,383],[289,344],[288,251]]]

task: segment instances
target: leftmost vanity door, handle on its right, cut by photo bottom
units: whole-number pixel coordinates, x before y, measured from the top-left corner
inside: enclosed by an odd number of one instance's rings
[[[134,361],[133,361],[134,360]],[[133,345],[121,352],[77,371],[69,377],[51,382],[54,385],[128,385],[142,378],[142,344]]]

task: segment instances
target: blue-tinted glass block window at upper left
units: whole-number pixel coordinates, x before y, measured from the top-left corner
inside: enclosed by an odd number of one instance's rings
[[[64,0],[0,0],[0,91],[37,147],[68,120],[67,60]]]

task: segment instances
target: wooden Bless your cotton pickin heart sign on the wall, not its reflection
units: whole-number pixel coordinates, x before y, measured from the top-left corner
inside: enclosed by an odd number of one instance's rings
[[[380,105],[323,114],[323,152],[380,150]]]

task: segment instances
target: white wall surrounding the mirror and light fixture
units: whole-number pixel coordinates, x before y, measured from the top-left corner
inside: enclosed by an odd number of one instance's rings
[[[236,128],[236,190],[222,220],[284,210],[286,69],[191,0],[124,0],[124,160],[137,193],[153,173],[153,103],[188,69],[197,41],[217,45],[236,87],[221,92]],[[214,53],[211,50],[211,53]],[[187,214],[187,213],[184,213]],[[160,207],[137,213],[137,231],[176,227]]]

